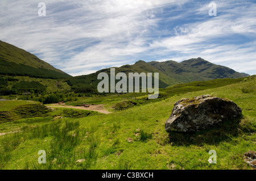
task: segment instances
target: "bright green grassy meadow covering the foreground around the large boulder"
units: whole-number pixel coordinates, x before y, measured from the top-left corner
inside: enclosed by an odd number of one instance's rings
[[[0,121],[0,169],[251,170],[243,153],[256,150],[256,79],[216,84],[167,87],[160,90],[164,96],[152,101],[141,94],[135,99],[134,93],[81,97],[66,103],[104,104],[112,111],[109,114],[43,107],[40,113],[28,112],[41,104],[1,101],[0,112],[9,112],[15,119]],[[164,130],[177,100],[205,94],[233,100],[242,108],[242,119],[193,134]],[[136,104],[123,106],[123,101],[133,99]],[[117,105],[122,108],[116,109]],[[46,151],[45,164],[38,163],[39,150]],[[210,150],[216,150],[216,164],[208,162]]]

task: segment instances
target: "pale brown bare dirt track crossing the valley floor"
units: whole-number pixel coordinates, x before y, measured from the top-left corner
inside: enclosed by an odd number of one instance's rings
[[[69,105],[66,105],[65,103],[63,103],[63,104],[51,104],[51,105],[48,105],[48,107],[52,107],[52,108],[66,107],[66,108],[74,108],[74,109],[79,109],[79,110],[98,111],[98,112],[106,113],[106,114],[111,113],[105,109],[104,104],[90,105],[90,107],[84,107],[84,106],[69,106]]]

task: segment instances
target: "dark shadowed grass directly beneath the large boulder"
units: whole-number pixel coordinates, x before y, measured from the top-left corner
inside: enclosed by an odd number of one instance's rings
[[[224,123],[219,123],[212,128],[200,132],[183,133],[171,131],[168,132],[168,138],[172,145],[177,146],[202,146],[204,144],[217,145],[222,141],[231,141],[232,137],[238,136],[241,131],[241,120],[242,116],[237,119],[225,121]]]

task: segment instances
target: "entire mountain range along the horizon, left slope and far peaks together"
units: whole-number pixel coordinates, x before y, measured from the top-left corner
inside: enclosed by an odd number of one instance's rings
[[[59,69],[54,68],[47,62],[40,60],[34,54],[14,45],[0,41],[0,74],[20,75],[36,78],[64,79],[73,89],[79,87],[97,88],[98,73],[110,74],[110,69],[102,69],[96,73],[72,77]],[[115,68],[115,73],[159,73],[159,87],[165,88],[177,83],[188,83],[193,81],[208,81],[217,78],[240,78],[249,74],[239,73],[226,66],[212,64],[203,58],[191,58],[182,62],[145,62],[139,60],[133,65],[123,65]]]

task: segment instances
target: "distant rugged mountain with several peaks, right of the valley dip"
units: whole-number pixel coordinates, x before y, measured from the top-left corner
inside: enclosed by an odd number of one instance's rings
[[[67,80],[68,84],[76,89],[78,87],[85,87],[85,85],[97,89],[98,82],[97,75],[101,72],[110,75],[110,69],[102,69],[89,75],[81,75],[72,77]],[[217,78],[240,78],[246,77],[249,74],[239,73],[226,66],[212,64],[203,58],[191,58],[182,62],[164,61],[164,62],[145,62],[139,60],[133,65],[123,65],[115,68],[115,74],[123,72],[126,73],[159,73],[159,87],[166,88],[177,83],[188,83],[193,81],[209,81]],[[154,75],[154,74],[153,74]],[[117,80],[116,82],[118,82]]]

